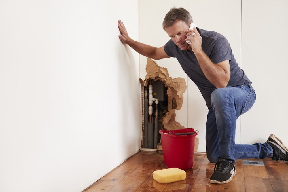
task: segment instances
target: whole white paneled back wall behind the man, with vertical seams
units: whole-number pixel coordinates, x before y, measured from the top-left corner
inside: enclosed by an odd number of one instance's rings
[[[236,143],[266,142],[269,134],[279,135],[288,145],[285,116],[287,91],[286,1],[139,1],[139,40],[155,47],[163,46],[169,37],[162,29],[165,14],[173,6],[184,7],[194,23],[206,30],[217,31],[229,41],[233,54],[253,82],[255,106],[237,120]],[[149,13],[147,12],[149,11]],[[271,28],[267,28],[267,25]],[[146,58],[140,57],[140,77],[145,77]],[[206,151],[205,126],[207,107],[198,88],[187,78],[175,58],[156,61],[167,67],[171,77],[183,77],[188,88],[176,120],[185,127],[200,130],[198,151]],[[273,88],[270,88],[273,87]],[[264,120],[265,119],[265,120]]]

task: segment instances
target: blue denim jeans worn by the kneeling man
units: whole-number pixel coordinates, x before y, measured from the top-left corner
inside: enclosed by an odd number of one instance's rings
[[[251,85],[218,88],[211,94],[211,107],[207,115],[206,149],[211,162],[217,158],[235,162],[235,159],[272,157],[268,143],[235,144],[237,118],[246,113],[256,99]]]

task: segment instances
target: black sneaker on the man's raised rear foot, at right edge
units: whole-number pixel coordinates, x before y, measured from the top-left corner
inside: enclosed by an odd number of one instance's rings
[[[278,137],[271,134],[267,140],[267,143],[271,145],[273,149],[273,161],[288,161],[288,149]]]

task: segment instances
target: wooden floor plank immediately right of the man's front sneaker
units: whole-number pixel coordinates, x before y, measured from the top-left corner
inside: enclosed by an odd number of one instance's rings
[[[243,171],[242,159],[238,159],[235,162],[236,175],[232,178],[232,181],[219,185],[218,192],[245,192],[245,179]]]

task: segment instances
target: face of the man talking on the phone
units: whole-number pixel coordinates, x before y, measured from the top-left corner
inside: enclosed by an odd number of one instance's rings
[[[187,50],[189,47],[189,44],[186,43],[185,39],[187,30],[189,29],[189,26],[181,20],[177,20],[174,22],[172,26],[165,27],[166,33],[171,37],[172,41],[181,49],[181,50]]]

